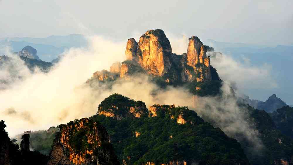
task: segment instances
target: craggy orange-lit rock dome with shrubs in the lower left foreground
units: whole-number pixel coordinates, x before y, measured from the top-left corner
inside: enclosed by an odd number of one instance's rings
[[[83,118],[60,125],[48,165],[119,164],[105,128]]]

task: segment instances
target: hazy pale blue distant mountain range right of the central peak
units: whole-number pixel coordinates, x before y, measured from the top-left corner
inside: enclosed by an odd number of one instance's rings
[[[246,90],[246,95],[254,98],[265,99],[272,93],[283,98],[287,103],[293,105],[293,76],[291,66],[293,64],[293,45],[256,45],[245,43],[229,43],[207,40],[209,46],[226,55],[231,55],[237,61],[248,58],[252,66],[268,64],[272,67],[272,78],[277,81],[279,88],[276,89],[254,89]],[[221,76],[221,75],[220,75]]]

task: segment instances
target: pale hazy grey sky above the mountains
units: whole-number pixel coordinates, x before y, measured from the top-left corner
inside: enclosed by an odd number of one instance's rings
[[[0,38],[107,35],[160,28],[220,42],[293,44],[292,0],[0,0]]]

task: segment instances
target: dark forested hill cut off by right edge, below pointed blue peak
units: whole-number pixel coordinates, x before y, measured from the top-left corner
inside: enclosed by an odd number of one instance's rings
[[[283,134],[293,139],[293,108],[284,106],[270,113],[270,115],[276,127],[281,130]]]

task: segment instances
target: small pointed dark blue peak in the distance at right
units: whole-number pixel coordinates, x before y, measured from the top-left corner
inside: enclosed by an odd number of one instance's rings
[[[246,102],[255,109],[265,110],[266,112],[274,112],[278,108],[287,106],[287,104],[272,94],[265,102],[259,100],[251,100],[248,96],[245,98]]]

